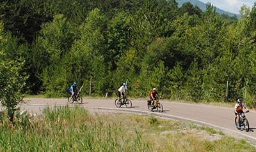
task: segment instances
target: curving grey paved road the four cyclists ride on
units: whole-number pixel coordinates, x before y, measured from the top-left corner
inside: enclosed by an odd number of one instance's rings
[[[33,98],[25,99],[27,104],[21,104],[21,109],[26,109],[29,112],[42,114],[42,109],[45,106],[66,106],[67,99],[42,99]],[[164,102],[161,101],[164,107],[163,113],[157,111],[150,112],[147,109],[147,101],[145,100],[132,100],[132,108],[125,106],[117,108],[114,100],[109,99],[84,99],[83,106],[90,110],[114,110],[114,111],[127,111],[140,114],[154,114],[157,116],[172,118],[176,120],[191,121],[200,125],[216,128],[228,135],[239,135],[248,139],[256,144],[256,112],[251,110],[246,113],[246,118],[250,122],[250,131],[237,130],[234,125],[234,109],[229,107],[209,106],[203,104],[186,104],[178,102]],[[70,104],[74,106],[75,104]]]

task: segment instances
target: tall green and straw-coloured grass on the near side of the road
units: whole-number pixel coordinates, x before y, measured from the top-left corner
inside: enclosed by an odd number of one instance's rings
[[[14,123],[2,113],[0,150],[256,151],[212,128],[154,116],[90,113],[79,106],[47,107],[43,113],[17,114]]]

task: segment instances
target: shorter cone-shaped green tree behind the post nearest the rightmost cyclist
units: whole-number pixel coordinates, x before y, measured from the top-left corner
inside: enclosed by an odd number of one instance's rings
[[[204,70],[204,84],[206,99],[227,102],[241,97],[239,84],[241,83],[242,70],[237,70],[237,60],[234,53],[227,48],[223,55],[216,58],[216,62],[212,65],[211,72]],[[227,81],[228,81],[228,99],[227,99]]]

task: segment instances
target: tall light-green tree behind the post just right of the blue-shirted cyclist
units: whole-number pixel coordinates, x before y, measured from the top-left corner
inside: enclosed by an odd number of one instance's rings
[[[80,38],[74,43],[70,62],[74,79],[84,81],[84,90],[89,93],[90,79],[92,78],[93,95],[103,95],[111,84],[111,74],[105,59],[108,59],[107,18],[100,10],[90,11],[81,25]],[[109,74],[109,75],[108,75]],[[76,80],[77,81],[77,80]]]

